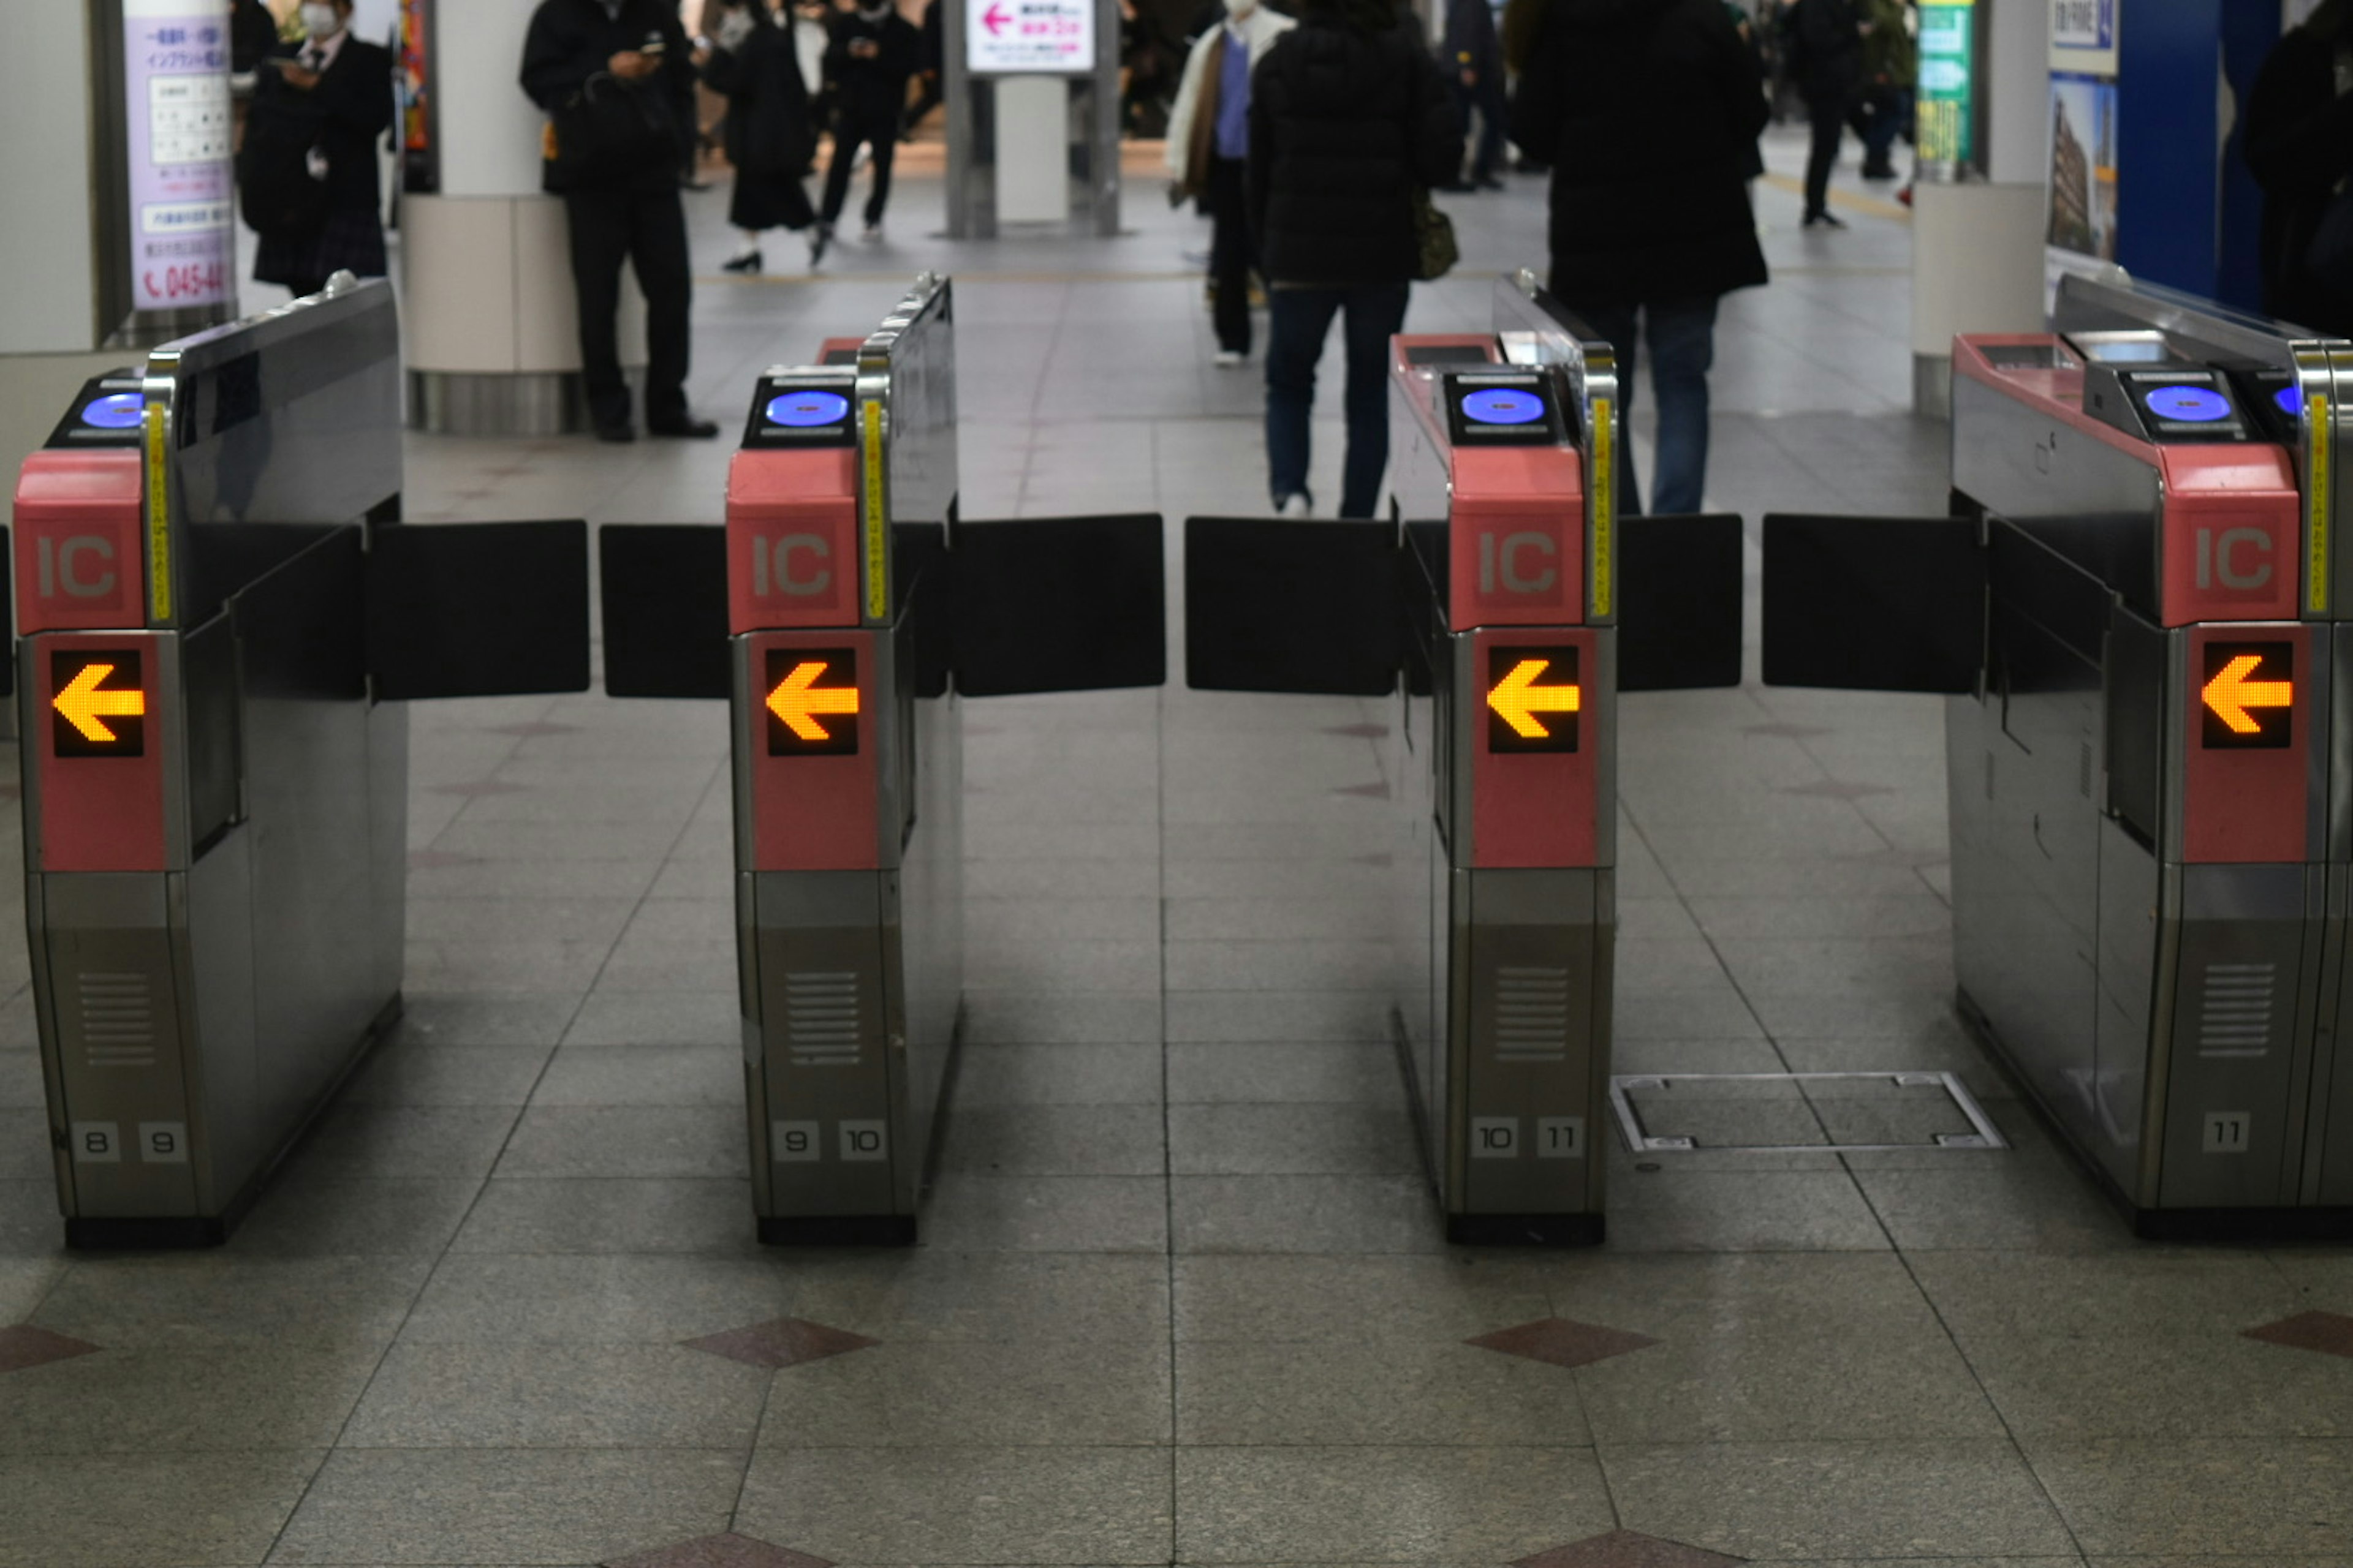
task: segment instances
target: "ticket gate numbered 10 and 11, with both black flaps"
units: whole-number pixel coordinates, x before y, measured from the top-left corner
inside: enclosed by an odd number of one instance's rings
[[[1449,1241],[1602,1239],[1619,693],[1737,686],[1739,517],[1621,517],[1609,346],[1532,275],[1400,336],[1391,515],[1186,522],[1186,684],[1395,696],[1395,1041]]]

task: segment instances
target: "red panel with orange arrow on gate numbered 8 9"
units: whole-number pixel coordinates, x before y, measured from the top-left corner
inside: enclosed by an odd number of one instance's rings
[[[158,646],[120,632],[33,639],[38,870],[169,870]]]

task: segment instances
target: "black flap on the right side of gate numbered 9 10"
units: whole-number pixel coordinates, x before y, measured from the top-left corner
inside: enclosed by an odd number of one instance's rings
[[[948,583],[965,696],[1167,679],[1160,517],[960,522]]]

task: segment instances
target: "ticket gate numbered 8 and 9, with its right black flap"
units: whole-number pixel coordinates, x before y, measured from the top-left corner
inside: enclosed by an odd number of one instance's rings
[[[68,1246],[226,1239],[400,1013],[407,698],[588,686],[579,522],[400,527],[384,282],[82,388],[16,482]]]

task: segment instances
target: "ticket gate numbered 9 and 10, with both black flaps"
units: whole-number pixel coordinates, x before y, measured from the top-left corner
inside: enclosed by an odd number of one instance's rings
[[[958,517],[953,287],[760,376],[727,524],[607,524],[605,684],[727,698],[753,1208],[906,1244],[962,1004],[962,701],[1165,679],[1160,517]]]

